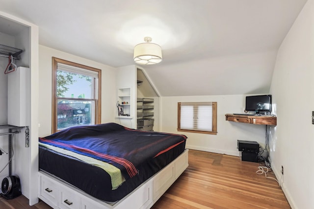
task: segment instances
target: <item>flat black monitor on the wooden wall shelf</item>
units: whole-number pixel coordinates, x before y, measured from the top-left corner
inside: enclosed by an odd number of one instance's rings
[[[256,114],[271,112],[271,95],[246,96],[245,110],[255,111]]]

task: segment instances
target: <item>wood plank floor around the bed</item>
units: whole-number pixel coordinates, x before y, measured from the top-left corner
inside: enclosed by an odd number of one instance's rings
[[[259,163],[189,150],[189,166],[152,209],[290,209],[275,180],[258,175]],[[275,177],[268,172],[267,176]],[[0,209],[51,209],[40,201],[28,206],[20,196],[0,198]]]

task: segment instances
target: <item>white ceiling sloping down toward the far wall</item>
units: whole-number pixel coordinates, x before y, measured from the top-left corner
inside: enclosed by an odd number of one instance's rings
[[[225,95],[268,93],[306,1],[0,0],[0,10],[38,25],[41,45],[112,67],[133,65],[150,36],[163,61],[144,68],[161,96]]]

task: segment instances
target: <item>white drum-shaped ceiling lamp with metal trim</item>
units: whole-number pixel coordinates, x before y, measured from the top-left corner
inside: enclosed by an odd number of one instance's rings
[[[140,65],[154,65],[162,60],[161,47],[150,43],[152,38],[145,37],[146,43],[134,47],[134,62]]]

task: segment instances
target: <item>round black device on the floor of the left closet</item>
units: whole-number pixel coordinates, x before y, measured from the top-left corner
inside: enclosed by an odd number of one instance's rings
[[[20,178],[7,176],[2,180],[1,196],[5,199],[14,199],[22,194]]]

